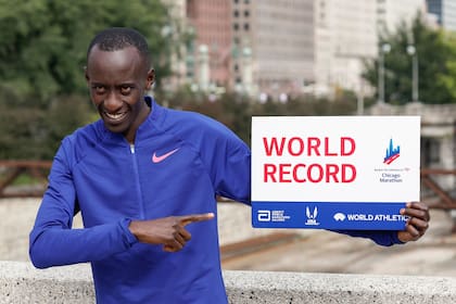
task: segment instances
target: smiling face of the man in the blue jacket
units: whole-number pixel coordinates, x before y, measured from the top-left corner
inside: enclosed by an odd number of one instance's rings
[[[90,51],[86,79],[90,97],[106,128],[122,132],[132,142],[136,130],[149,114],[143,101],[154,80],[138,50],[128,47],[117,51]]]

